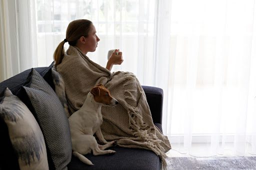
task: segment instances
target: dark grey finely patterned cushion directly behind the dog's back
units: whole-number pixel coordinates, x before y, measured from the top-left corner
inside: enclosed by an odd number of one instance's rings
[[[71,159],[71,137],[64,108],[55,92],[38,72],[31,69],[17,95],[28,106],[41,127],[49,168],[66,169]]]

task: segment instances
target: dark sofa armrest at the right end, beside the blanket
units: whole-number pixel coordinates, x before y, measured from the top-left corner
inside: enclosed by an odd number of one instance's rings
[[[153,123],[162,123],[163,91],[158,87],[142,86],[149,105]]]

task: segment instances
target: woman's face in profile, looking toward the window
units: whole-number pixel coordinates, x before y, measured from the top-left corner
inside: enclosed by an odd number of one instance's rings
[[[96,30],[93,24],[90,26],[90,31],[88,32],[88,37],[85,38],[86,47],[88,52],[93,52],[96,50],[99,38],[96,35]]]

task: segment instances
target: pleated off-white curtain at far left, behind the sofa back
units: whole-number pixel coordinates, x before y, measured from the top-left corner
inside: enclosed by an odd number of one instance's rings
[[[33,0],[0,1],[0,81],[37,66]]]

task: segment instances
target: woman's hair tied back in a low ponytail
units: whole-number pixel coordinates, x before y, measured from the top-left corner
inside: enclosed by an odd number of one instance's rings
[[[81,37],[87,37],[92,22],[87,19],[77,19],[71,21],[66,28],[66,38],[61,41],[53,53],[55,65],[61,63],[64,56],[64,43],[75,46],[77,40]]]

